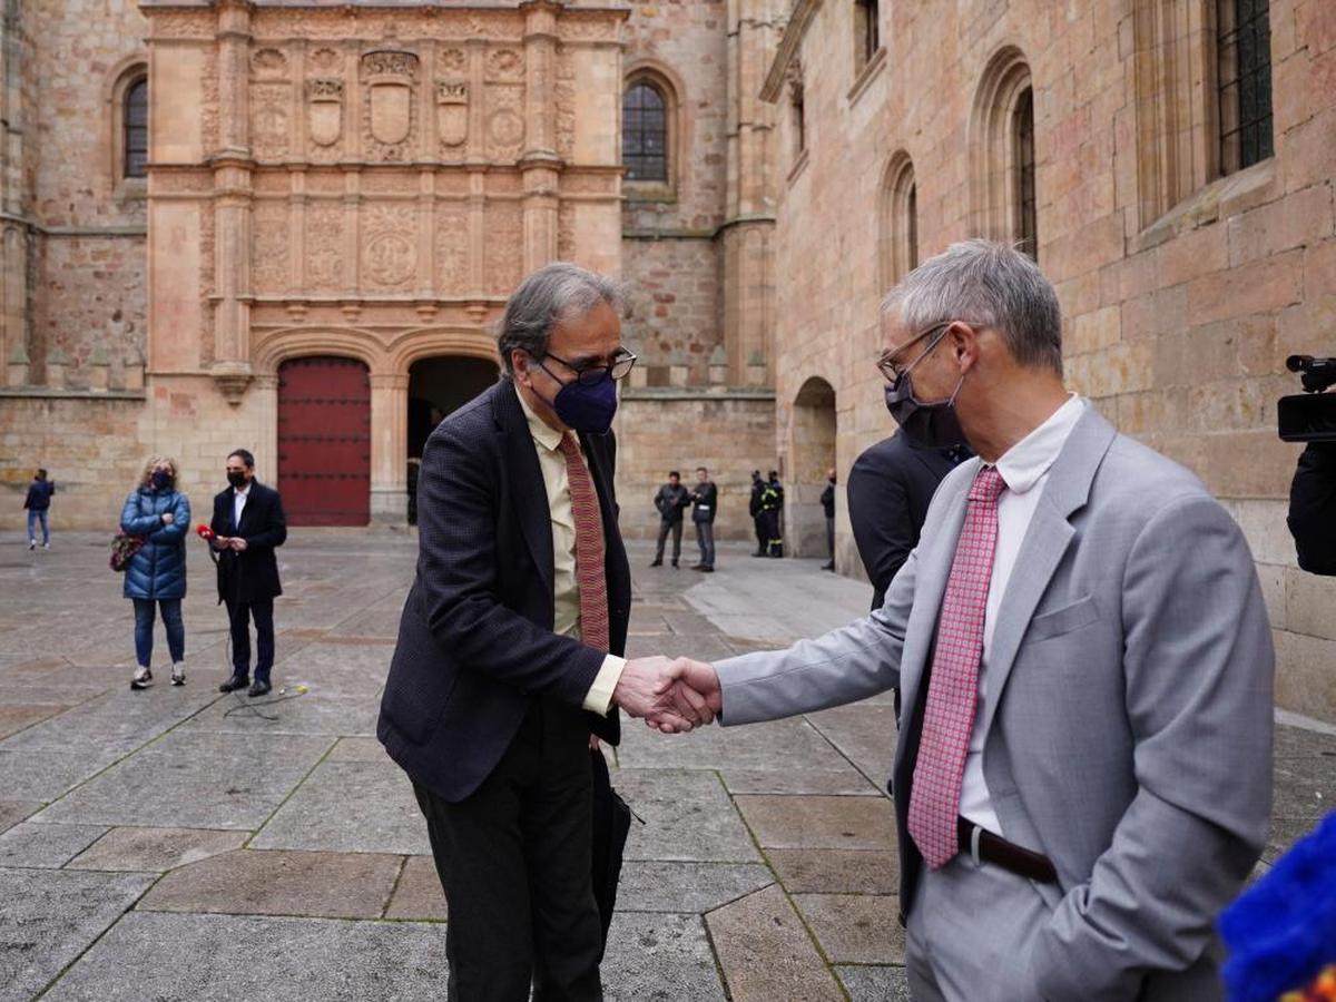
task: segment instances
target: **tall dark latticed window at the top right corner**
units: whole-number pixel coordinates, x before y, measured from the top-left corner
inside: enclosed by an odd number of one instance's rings
[[[1268,0],[1218,0],[1220,172],[1250,167],[1273,151]]]

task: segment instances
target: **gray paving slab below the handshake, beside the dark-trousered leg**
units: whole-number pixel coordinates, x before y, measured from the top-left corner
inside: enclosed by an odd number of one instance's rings
[[[719,778],[689,770],[619,770],[613,786],[644,824],[631,823],[627,859],[760,862]]]

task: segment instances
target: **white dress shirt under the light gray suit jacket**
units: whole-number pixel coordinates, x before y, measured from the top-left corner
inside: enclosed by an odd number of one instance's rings
[[[1086,402],[1073,393],[1047,421],[1007,449],[997,461],[1006,490],[998,497],[998,540],[993,552],[993,577],[989,581],[989,603],[983,616],[979,697],[974,711],[970,752],[965,759],[965,778],[961,782],[961,815],[998,835],[1006,832],[1002,831],[1002,824],[993,810],[989,786],[983,780],[983,740],[987,737],[983,733],[987,708],[985,676],[993,652],[993,631],[997,628],[998,607],[1002,605],[1002,596],[1006,595],[1007,582],[1015,569],[1021,544],[1025,542],[1025,534],[1030,529],[1030,520],[1043,494],[1043,485],[1049,482],[1049,469],[1066,445],[1071,429],[1077,426],[1086,406]]]

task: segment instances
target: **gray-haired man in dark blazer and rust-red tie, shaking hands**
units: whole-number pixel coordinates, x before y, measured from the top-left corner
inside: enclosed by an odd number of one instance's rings
[[[377,732],[428,820],[452,999],[603,997],[591,732],[617,743],[613,703],[653,719],[668,664],[620,657],[631,572],[609,428],[635,355],[617,303],[574,265],[529,275],[506,303],[502,379],[422,454],[417,577]]]

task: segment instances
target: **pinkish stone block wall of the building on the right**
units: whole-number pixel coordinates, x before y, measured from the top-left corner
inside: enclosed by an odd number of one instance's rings
[[[1297,391],[1285,357],[1333,350],[1336,5],[1272,0],[1275,155],[1228,174],[1208,86],[1214,3],[883,3],[882,52],[862,69],[854,15],[799,0],[767,79],[786,176],[775,390],[788,469],[811,440],[814,379],[834,390],[842,472],[891,430],[872,362],[879,298],[904,269],[904,178],[921,257],[1022,235],[1006,116],[1030,88],[1038,261],[1062,301],[1069,382],[1234,513],[1276,628],[1279,700],[1336,717],[1336,581],[1295,566],[1297,449],[1275,428],[1276,398]],[[791,498],[815,472],[791,476]],[[838,525],[850,572],[843,498]]]

